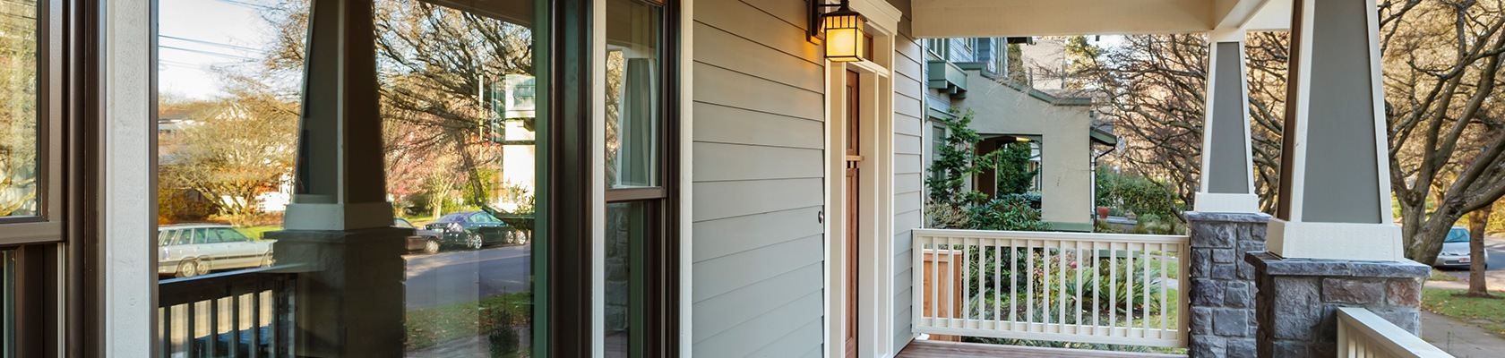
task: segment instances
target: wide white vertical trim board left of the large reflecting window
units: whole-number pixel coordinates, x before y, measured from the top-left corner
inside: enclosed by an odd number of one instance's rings
[[[149,356],[155,344],[157,263],[152,260],[157,214],[143,211],[152,196],[152,41],[154,2],[110,2],[101,8],[99,120],[99,272],[104,286],[104,347],[108,356]],[[84,292],[74,292],[83,295]],[[141,329],[150,326],[152,329]],[[87,328],[84,328],[87,331]]]

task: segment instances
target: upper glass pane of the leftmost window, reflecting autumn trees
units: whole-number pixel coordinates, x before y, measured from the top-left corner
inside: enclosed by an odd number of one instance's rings
[[[0,217],[38,215],[36,0],[0,2]]]

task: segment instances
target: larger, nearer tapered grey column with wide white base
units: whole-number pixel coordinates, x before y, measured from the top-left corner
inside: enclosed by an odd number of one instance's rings
[[[1377,15],[1374,0],[1293,6],[1273,254],[1404,259],[1391,212]]]

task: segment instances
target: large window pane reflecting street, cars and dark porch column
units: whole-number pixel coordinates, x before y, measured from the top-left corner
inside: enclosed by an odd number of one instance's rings
[[[534,323],[546,304],[536,299],[534,250],[545,239],[534,208],[546,200],[548,102],[537,87],[548,59],[534,11],[543,2],[375,0],[361,24],[318,23],[310,3],[327,2],[158,2],[158,347],[173,356],[543,356],[536,343],[546,332]],[[352,29],[370,32],[375,47],[321,53],[339,45],[321,33]],[[309,99],[334,83],[310,66],[360,50],[375,62],[376,89],[351,90],[372,90],[376,102],[349,105],[379,117],[351,119],[357,138],[346,140],[381,141],[381,152],[361,155],[381,156],[382,176],[345,185],[384,182],[390,211],[352,215],[390,215],[403,238],[289,224],[289,208],[324,200],[299,187],[306,171],[351,173],[301,161],[330,140],[307,134],[321,119],[306,111],[333,113]],[[378,126],[379,137],[354,134]],[[337,254],[304,254],[318,250]],[[205,287],[221,290],[205,296]],[[331,313],[342,304],[363,308]],[[330,332],[343,338],[325,340]]]

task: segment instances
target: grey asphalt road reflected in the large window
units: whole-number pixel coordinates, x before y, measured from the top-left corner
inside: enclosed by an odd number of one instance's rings
[[[409,254],[408,310],[530,290],[533,244],[521,247],[486,247],[470,251],[445,248],[438,254]]]

